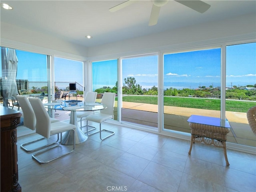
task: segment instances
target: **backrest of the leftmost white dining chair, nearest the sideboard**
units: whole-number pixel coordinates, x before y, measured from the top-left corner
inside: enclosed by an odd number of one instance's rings
[[[20,95],[17,95],[16,98],[19,102],[20,107],[22,108],[24,118],[23,125],[27,128],[30,128],[31,130],[35,130],[36,116],[30,102],[28,101],[28,98],[26,96]]]

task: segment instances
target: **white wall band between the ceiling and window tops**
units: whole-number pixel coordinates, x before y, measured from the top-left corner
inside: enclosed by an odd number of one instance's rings
[[[44,54],[55,54],[71,58],[104,58],[113,56],[129,56],[157,52],[175,46],[186,46],[193,42],[214,42],[222,38],[232,38],[250,34],[250,38],[256,39],[256,17],[255,14],[242,15],[228,20],[220,20],[206,24],[198,24],[179,28],[159,34],[142,36],[129,40],[104,44],[86,48],[80,45],[66,42],[65,40],[46,34],[20,28],[1,22],[1,46],[10,44],[30,45],[31,51]],[[19,46],[19,48],[22,48]],[[9,46],[11,47],[11,46]],[[28,46],[27,46],[28,47]],[[38,49],[38,50],[35,50]],[[28,50],[27,48],[23,50]],[[44,50],[44,51],[42,51]]]

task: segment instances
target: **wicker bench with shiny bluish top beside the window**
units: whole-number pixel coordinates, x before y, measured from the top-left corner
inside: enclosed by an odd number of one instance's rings
[[[191,141],[188,154],[191,154],[192,145],[195,142],[204,142],[207,145],[214,145],[224,149],[226,166],[229,166],[226,152],[227,134],[230,132],[228,120],[220,118],[192,115],[188,118],[191,128]]]

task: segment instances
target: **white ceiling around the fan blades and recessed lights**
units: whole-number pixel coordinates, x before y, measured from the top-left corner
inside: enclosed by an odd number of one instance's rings
[[[1,22],[64,39],[86,47],[156,34],[184,26],[256,13],[255,0],[204,0],[211,5],[198,13],[170,0],[161,7],[158,23],[148,26],[152,2],[138,1],[117,12],[108,9],[124,0],[1,0]],[[84,36],[91,35],[92,39]]]

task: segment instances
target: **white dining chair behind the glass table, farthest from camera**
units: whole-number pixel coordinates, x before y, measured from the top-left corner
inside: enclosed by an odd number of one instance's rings
[[[97,96],[97,92],[87,92],[85,98],[84,98],[84,103],[95,103],[96,102],[96,96]],[[76,117],[80,119],[80,128],[82,128],[82,119],[89,116],[89,115],[92,115],[94,114],[93,111],[77,111],[76,112]],[[70,116],[70,114],[68,114]],[[90,126],[90,125],[88,125]],[[93,126],[91,126],[93,127]],[[94,130],[96,129],[95,127],[93,127],[93,129],[91,130]],[[89,130],[89,131],[91,131]]]

